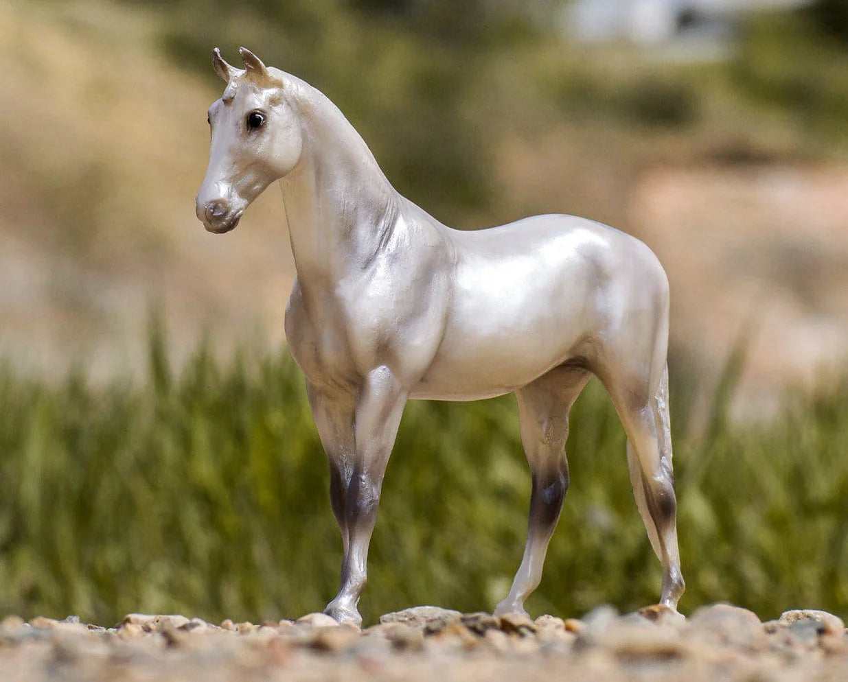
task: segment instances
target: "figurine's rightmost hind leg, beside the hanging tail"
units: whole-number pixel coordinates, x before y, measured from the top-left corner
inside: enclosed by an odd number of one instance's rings
[[[663,367],[656,391],[646,401],[633,400],[644,391],[610,394],[628,434],[628,467],[636,505],[650,544],[662,563],[660,603],[677,609],[685,584],[678,550],[677,498],[672,470],[671,420],[668,412],[668,368]]]

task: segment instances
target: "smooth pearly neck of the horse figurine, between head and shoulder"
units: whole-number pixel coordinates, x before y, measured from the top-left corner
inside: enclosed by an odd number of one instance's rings
[[[395,229],[399,195],[326,97],[315,91],[302,119],[304,151],[281,184],[298,280],[309,286],[374,258]]]

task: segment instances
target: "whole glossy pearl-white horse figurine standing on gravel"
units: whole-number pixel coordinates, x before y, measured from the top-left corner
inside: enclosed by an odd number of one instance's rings
[[[514,391],[533,478],[527,546],[494,613],[527,615],[568,487],[568,413],[595,374],[628,435],[633,493],[663,568],[661,602],[683,594],[668,413],[668,282],[641,241],[570,215],[452,230],[402,197],[338,108],[240,48],[213,53],[224,94],[209,108],[198,219],[221,234],[281,181],[297,278],[285,329],[306,377],[343,541],[325,613],[357,604],[383,474],[410,398]]]

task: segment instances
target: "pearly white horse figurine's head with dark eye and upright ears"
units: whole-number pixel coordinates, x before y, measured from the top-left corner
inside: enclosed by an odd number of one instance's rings
[[[227,64],[217,47],[215,72],[226,81],[209,107],[209,167],[197,214],[210,232],[228,232],[265,187],[287,175],[303,150],[299,119],[285,96],[281,71],[268,69],[245,47],[244,69]]]

